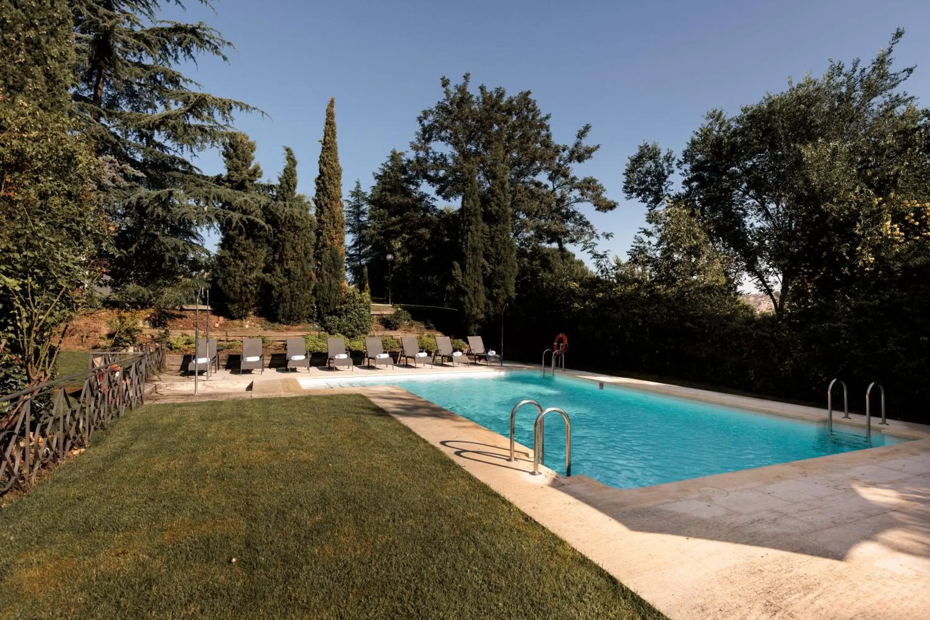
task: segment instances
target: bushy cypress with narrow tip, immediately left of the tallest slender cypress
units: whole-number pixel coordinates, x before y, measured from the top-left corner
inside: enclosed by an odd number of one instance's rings
[[[316,219],[310,202],[297,192],[297,158],[290,147],[285,147],[285,158],[266,216],[272,234],[265,278],[266,316],[280,323],[306,323],[313,318]]]

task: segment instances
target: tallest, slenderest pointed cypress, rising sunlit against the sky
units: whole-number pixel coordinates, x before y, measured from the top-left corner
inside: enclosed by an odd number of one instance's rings
[[[336,99],[326,106],[326,127],[316,178],[316,302],[321,317],[332,314],[342,303],[345,282],[345,222],[342,218],[342,166],[336,144]]]

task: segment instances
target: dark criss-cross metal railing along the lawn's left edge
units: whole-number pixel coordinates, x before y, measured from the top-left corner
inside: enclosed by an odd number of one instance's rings
[[[108,363],[0,398],[0,495],[17,483],[32,484],[42,468],[86,446],[126,407],[139,406],[146,379],[165,368],[163,345],[103,355]],[[80,379],[83,385],[69,391]]]

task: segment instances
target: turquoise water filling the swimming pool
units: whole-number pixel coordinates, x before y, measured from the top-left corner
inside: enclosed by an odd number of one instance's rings
[[[787,463],[897,443],[873,429],[871,442],[851,427],[769,416],[568,376],[510,371],[494,376],[392,377],[350,385],[400,386],[507,437],[510,414],[529,398],[565,409],[572,423],[572,474],[618,488]],[[339,381],[340,385],[346,382]],[[516,417],[515,438],[533,445],[532,405]],[[842,416],[842,414],[841,414]],[[839,416],[836,416],[839,417]],[[835,417],[834,417],[835,420]],[[546,466],[565,473],[565,423],[546,417]]]

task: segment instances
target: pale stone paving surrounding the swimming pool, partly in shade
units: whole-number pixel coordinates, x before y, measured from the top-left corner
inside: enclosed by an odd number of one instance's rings
[[[489,370],[494,367],[437,372]],[[395,372],[426,374],[429,368]],[[826,417],[814,407],[566,374],[780,416]],[[301,375],[302,381],[259,379],[250,395],[331,392],[338,385],[332,371]],[[349,375],[339,372],[339,378]],[[671,618],[930,618],[928,427],[896,420],[880,427],[873,418],[873,432],[886,429],[914,441],[616,489],[549,468],[533,476],[525,446],[518,445],[518,460],[508,462],[507,438],[405,389],[344,390],[364,393]],[[181,394],[160,398],[191,400]],[[843,423],[861,428],[864,416]]]

